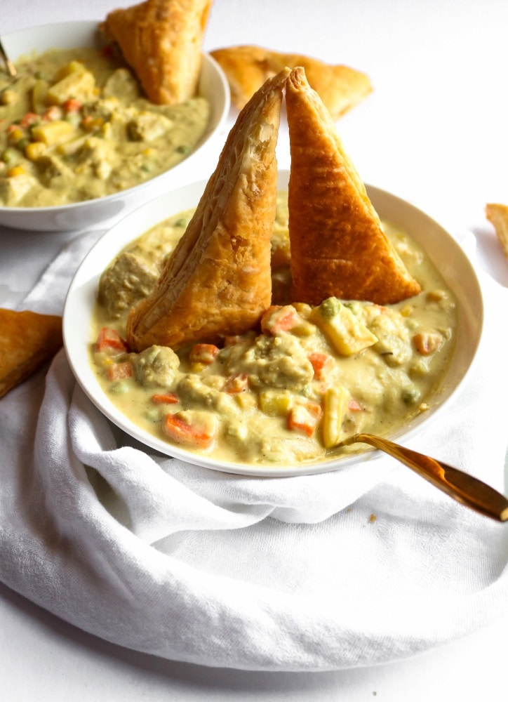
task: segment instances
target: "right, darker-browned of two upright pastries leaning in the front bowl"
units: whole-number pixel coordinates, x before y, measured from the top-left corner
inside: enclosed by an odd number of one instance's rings
[[[300,67],[286,81],[286,111],[293,301],[319,305],[335,296],[385,305],[419,293]]]

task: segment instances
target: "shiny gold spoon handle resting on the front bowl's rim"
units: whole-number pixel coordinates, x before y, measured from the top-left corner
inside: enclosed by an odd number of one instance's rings
[[[447,463],[436,461],[435,458],[425,456],[423,453],[417,453],[417,451],[411,451],[411,449],[406,449],[404,446],[394,444],[388,439],[382,439],[372,434],[355,434],[344,439],[337,446],[349,446],[349,444],[359,442],[370,444],[375,449],[389,453],[390,456],[408,465],[418,475],[432,482],[434,486],[446,492],[447,495],[453,497],[462,505],[466,505],[486,517],[495,519],[497,522],[508,521],[507,498],[463,470],[458,470],[458,468],[453,468]]]

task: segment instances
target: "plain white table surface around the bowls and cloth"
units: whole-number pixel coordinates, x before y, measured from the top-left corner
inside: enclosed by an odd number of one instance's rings
[[[126,3],[128,4],[128,3]],[[102,19],[116,0],[1,0],[0,32]],[[508,203],[506,0],[215,0],[205,49],[260,44],[345,63],[375,91],[339,123],[367,183],[470,230],[508,286],[483,208]],[[232,119],[234,113],[232,113]],[[279,147],[288,166],[286,135]],[[204,162],[188,180],[207,178]],[[0,306],[15,307],[69,234],[0,227]],[[506,311],[502,311],[506,319]],[[508,434],[508,432],[507,432]],[[330,673],[249,673],[163,661],[77,630],[0,584],[0,699],[389,702],[508,698],[508,618],[407,661]]]

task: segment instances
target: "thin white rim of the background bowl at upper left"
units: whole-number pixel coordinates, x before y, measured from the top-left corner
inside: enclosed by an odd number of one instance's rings
[[[24,29],[18,29],[15,32],[9,32],[8,34],[0,34],[2,43],[4,44],[4,47],[6,48],[6,51],[8,52],[8,44],[12,39],[20,39],[23,37],[23,35],[27,34],[30,35],[33,32],[41,32],[44,33],[46,31],[50,31],[51,27],[53,29],[55,27],[58,27],[59,30],[65,31],[65,28],[67,27],[76,27],[80,28],[83,31],[83,34],[88,31],[90,32],[91,36],[92,34],[97,34],[98,35],[98,25],[100,23],[100,20],[64,20],[62,22],[46,22],[46,24],[43,25],[34,25],[33,27],[25,27]],[[98,39],[95,40],[95,44],[98,46],[100,45],[100,42]],[[85,46],[83,44],[82,46]],[[90,46],[93,46],[93,43],[90,44]],[[59,48],[58,46],[55,46],[55,48]],[[72,48],[72,47],[69,47]],[[78,47],[81,48],[81,47]],[[48,48],[49,50],[49,48]],[[32,51],[37,51],[33,50]],[[46,49],[42,50],[46,51]],[[9,52],[8,52],[9,53]],[[29,53],[28,53],[29,54]],[[10,56],[11,60],[17,60],[20,58],[20,56],[25,55],[25,53],[20,53],[13,55],[13,57]],[[108,195],[104,195],[102,197],[97,197],[89,200],[81,200],[78,202],[70,202],[67,204],[62,204],[62,205],[49,205],[49,206],[43,206],[43,207],[11,207],[11,206],[6,206],[6,205],[1,205],[0,204],[0,216],[1,213],[8,213],[9,216],[13,216],[14,218],[17,218],[18,216],[22,218],[22,216],[33,216],[34,213],[40,215],[40,216],[51,216],[51,214],[55,213],[69,213],[73,211],[79,211],[80,209],[84,209],[90,206],[93,206],[94,204],[108,204],[109,202],[113,202],[115,200],[124,198],[124,197],[129,197],[133,191],[135,192],[142,192],[143,190],[148,189],[150,186],[154,186],[156,184],[159,184],[161,180],[165,177],[167,177],[169,174],[174,173],[175,169],[178,168],[178,166],[185,164],[186,166],[189,165],[189,162],[195,161],[197,157],[200,156],[201,151],[203,150],[203,147],[205,147],[208,142],[210,141],[211,138],[213,138],[213,135],[217,134],[220,132],[220,130],[225,126],[225,123],[227,121],[227,118],[229,117],[229,112],[231,110],[231,93],[229,91],[229,84],[227,82],[227,77],[225,75],[225,72],[222,70],[218,62],[213,58],[210,53],[201,51],[201,58],[202,58],[202,65],[201,65],[201,72],[200,72],[200,81],[201,78],[203,77],[203,71],[204,70],[210,70],[213,69],[213,71],[216,74],[216,77],[218,79],[218,84],[222,86],[222,92],[221,92],[221,99],[217,103],[217,110],[216,114],[213,114],[212,119],[210,119],[210,124],[208,124],[208,127],[206,128],[205,133],[201,136],[201,139],[197,143],[196,147],[192,152],[190,152],[185,159],[182,159],[182,161],[179,161],[178,164],[175,164],[175,166],[172,166],[171,168],[168,168],[167,171],[163,171],[162,173],[159,173],[158,176],[154,176],[154,178],[150,178],[149,180],[145,180],[142,183],[138,183],[138,185],[132,185],[131,187],[125,188],[124,190],[119,190],[118,192],[113,192]],[[200,91],[198,94],[201,93],[201,86],[200,86]],[[33,217],[32,217],[33,219]]]

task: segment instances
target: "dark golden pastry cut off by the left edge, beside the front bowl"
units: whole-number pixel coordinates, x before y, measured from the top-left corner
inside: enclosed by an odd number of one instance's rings
[[[0,397],[62,346],[62,317],[0,309]]]

